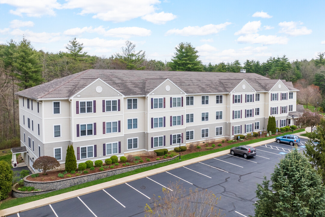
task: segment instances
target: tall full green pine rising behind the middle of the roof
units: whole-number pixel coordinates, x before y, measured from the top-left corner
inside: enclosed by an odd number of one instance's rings
[[[199,55],[197,55],[198,51],[191,45],[191,43],[181,42],[177,47],[175,47],[175,50],[176,52],[169,64],[172,71],[203,71]]]

